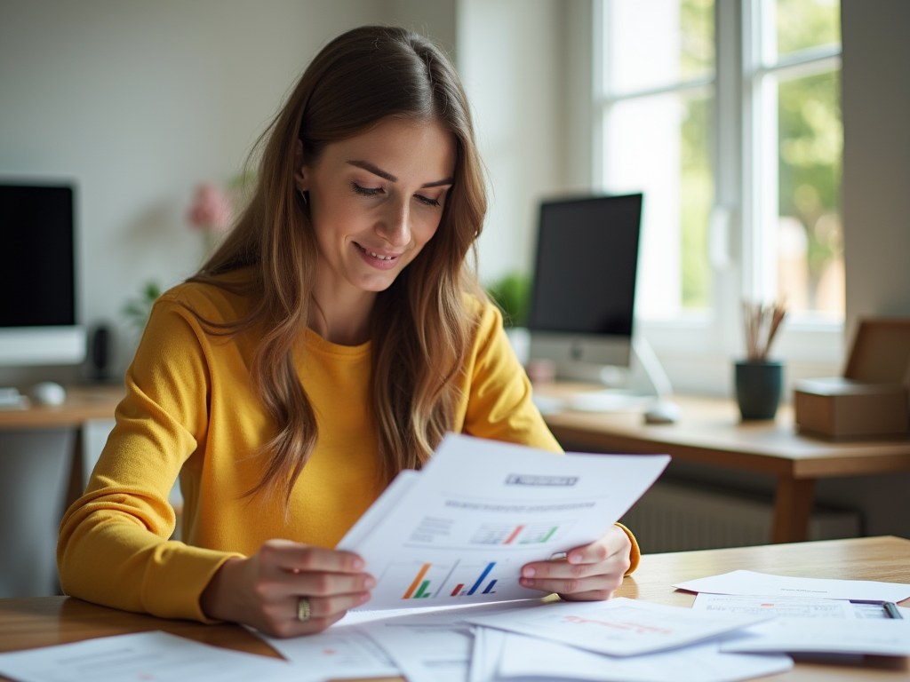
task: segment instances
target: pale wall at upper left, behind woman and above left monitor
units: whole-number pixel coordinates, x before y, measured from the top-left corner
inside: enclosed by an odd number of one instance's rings
[[[140,285],[203,254],[184,217],[197,183],[238,173],[308,60],[376,0],[4,0],[0,175],[78,187],[81,318],[116,324]],[[2,384],[2,382],[0,382]]]

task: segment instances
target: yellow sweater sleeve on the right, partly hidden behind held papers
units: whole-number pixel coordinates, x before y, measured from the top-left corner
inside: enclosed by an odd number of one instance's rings
[[[466,432],[472,436],[562,452],[534,405],[531,381],[511,349],[496,306],[482,308],[471,370]],[[622,524],[616,525],[632,541],[628,576],[638,567],[642,554],[632,531]]]

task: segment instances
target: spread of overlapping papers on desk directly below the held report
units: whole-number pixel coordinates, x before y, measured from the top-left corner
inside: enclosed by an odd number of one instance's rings
[[[698,614],[622,598],[528,600],[352,612],[319,635],[267,641],[306,671],[304,682],[390,675],[390,666],[409,682],[515,682],[522,677],[733,682],[793,667],[787,656],[721,650],[729,633],[764,618]],[[578,642],[567,644],[572,633]]]

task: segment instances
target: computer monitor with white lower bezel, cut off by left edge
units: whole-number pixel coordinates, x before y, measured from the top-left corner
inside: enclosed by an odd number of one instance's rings
[[[0,367],[76,365],[74,189],[0,183]]]

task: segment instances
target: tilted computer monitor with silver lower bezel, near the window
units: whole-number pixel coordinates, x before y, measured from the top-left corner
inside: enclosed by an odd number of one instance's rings
[[[594,381],[605,366],[630,366],[641,226],[641,194],[541,204],[531,360],[550,360],[560,378]]]

